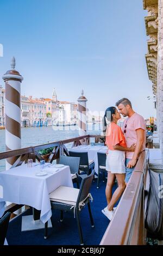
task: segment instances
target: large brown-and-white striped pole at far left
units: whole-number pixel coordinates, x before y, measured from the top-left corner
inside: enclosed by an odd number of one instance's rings
[[[2,77],[5,82],[5,147],[6,150],[21,148],[21,82],[23,77],[15,70],[15,58],[11,70]],[[6,160],[6,169],[11,168],[18,157]]]

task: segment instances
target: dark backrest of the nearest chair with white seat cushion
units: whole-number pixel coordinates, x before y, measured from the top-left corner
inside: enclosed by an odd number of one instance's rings
[[[77,199],[77,206],[80,202],[86,199],[87,195],[89,194],[94,174],[95,174],[95,170],[92,170],[92,173],[90,175],[82,179],[82,183],[80,185],[80,191]]]

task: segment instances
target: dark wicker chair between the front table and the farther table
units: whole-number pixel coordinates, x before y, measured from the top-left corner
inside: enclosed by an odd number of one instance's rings
[[[60,156],[59,163],[65,164],[65,166],[70,166],[70,172],[73,183],[77,183],[77,188],[79,188],[78,175],[79,172],[79,157],[72,156]]]

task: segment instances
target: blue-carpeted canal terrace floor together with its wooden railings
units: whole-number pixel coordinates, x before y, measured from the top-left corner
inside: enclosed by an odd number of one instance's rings
[[[32,158],[33,161],[40,161],[42,157],[38,154],[41,149],[54,147],[53,152],[49,156],[47,162],[58,160],[60,155],[68,155],[66,144],[73,143],[73,147],[80,145],[81,140],[85,140],[85,144],[90,143],[90,139],[95,138],[95,142],[100,141],[101,136],[86,135],[82,137],[66,139],[65,141],[53,142],[38,145],[36,147],[10,150],[0,153],[0,160],[8,157],[16,156],[18,160],[13,167],[27,159]],[[149,147],[151,142],[147,142]],[[139,161],[136,164],[126,190],[117,202],[118,208],[111,223],[101,210],[106,206],[105,186],[106,182],[101,182],[100,188],[97,189],[97,181],[92,183],[91,194],[93,203],[91,210],[95,221],[95,228],[92,229],[90,220],[87,215],[87,209],[81,213],[83,237],[85,245],[145,245],[146,229],[144,220],[144,189],[147,175],[148,150],[143,151]],[[116,189],[115,183],[112,192]],[[14,212],[21,208],[22,205],[11,204],[6,211]],[[60,212],[52,214],[53,228],[48,229],[48,239],[43,239],[43,229],[32,231],[21,231],[22,215],[32,214],[32,208],[27,209],[21,215],[13,218],[9,223],[7,240],[9,245],[79,245],[78,229],[73,216],[68,212],[64,215],[64,222],[60,222]],[[123,218],[122,218],[123,215]],[[121,223],[121,225],[120,225]]]

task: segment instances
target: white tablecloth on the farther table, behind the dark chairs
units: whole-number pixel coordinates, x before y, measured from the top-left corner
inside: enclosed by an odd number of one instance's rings
[[[95,162],[95,172],[98,173],[98,158],[97,152],[106,153],[106,146],[91,146],[91,145],[80,145],[78,147],[71,148],[70,151],[75,152],[87,152],[89,160],[93,160]]]

